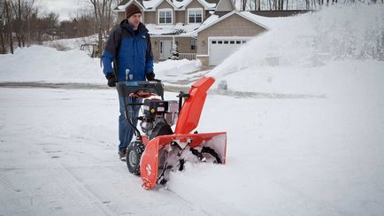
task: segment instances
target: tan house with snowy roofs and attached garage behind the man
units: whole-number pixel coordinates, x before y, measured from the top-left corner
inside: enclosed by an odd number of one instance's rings
[[[232,0],[124,0],[116,8],[118,22],[125,19],[131,3],[142,8],[155,60],[169,58],[175,44],[180,58],[197,58],[204,66],[217,66],[267,30],[254,14],[235,11]]]

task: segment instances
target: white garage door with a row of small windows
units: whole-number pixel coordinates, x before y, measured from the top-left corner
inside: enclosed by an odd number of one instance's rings
[[[210,66],[219,65],[245,42],[247,39],[210,39]]]

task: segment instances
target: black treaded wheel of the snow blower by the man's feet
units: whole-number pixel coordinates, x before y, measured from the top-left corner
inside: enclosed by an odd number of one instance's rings
[[[142,152],[145,146],[141,142],[129,143],[127,148],[127,167],[129,173],[140,175],[140,160],[142,159]]]

